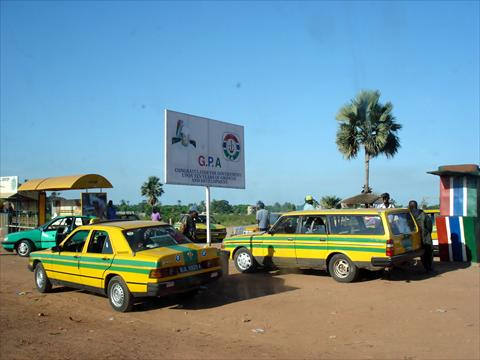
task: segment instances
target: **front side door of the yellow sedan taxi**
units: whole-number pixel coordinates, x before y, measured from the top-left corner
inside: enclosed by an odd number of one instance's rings
[[[79,259],[90,230],[78,230],[70,234],[59,246],[53,259],[56,278],[67,283],[82,284]]]

